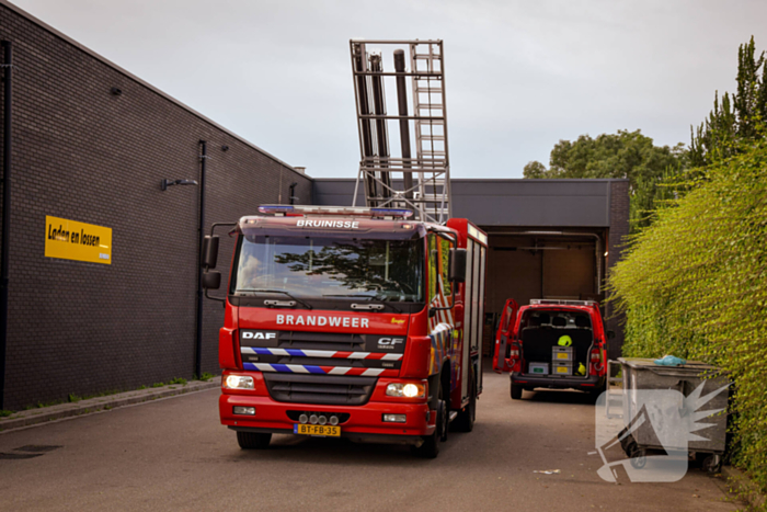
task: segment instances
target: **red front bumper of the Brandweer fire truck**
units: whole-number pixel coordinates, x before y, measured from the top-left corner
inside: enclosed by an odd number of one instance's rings
[[[234,414],[236,406],[254,407],[255,416]],[[224,394],[218,399],[221,424],[244,432],[293,433],[297,423],[288,411],[348,414],[339,423],[341,435],[353,441],[419,444],[434,433],[436,413],[426,403],[396,403],[370,400],[364,406],[343,407],[313,403],[287,403],[268,396]],[[404,423],[385,423],[384,414],[405,414]]]

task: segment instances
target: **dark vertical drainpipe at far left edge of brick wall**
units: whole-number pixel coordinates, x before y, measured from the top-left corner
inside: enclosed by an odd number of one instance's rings
[[[13,105],[13,90],[11,88],[11,72],[13,69],[13,46],[10,41],[3,41],[5,70],[4,102],[3,102],[3,132],[2,132],[2,251],[0,253],[0,409],[5,405],[5,348],[8,346],[8,283],[9,265],[8,257],[11,235],[11,121]]]

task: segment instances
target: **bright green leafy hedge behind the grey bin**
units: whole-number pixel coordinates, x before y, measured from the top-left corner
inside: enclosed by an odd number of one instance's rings
[[[608,280],[623,354],[674,354],[735,383],[734,460],[767,489],[767,143],[705,170],[629,243]]]

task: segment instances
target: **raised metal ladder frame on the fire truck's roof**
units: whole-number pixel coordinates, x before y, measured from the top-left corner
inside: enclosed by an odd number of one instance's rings
[[[350,47],[360,152],[353,206],[362,185],[367,206],[410,208],[421,220],[446,223],[451,204],[443,42],[352,39]],[[385,84],[392,80],[397,115],[387,113]],[[399,140],[389,137],[392,126]]]

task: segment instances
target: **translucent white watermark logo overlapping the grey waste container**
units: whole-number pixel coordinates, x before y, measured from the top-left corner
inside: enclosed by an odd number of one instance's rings
[[[610,390],[596,405],[595,444],[603,480],[617,482],[620,468],[632,482],[672,482],[687,474],[691,443],[725,428],[728,386],[702,395],[706,382],[687,397],[676,389]],[[714,400],[716,397],[719,399]],[[721,407],[720,407],[721,406]],[[628,457],[628,458],[626,458]]]

